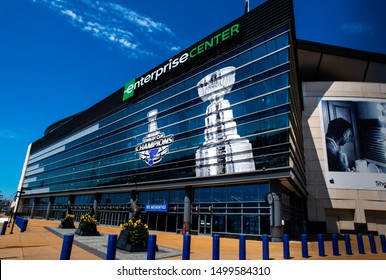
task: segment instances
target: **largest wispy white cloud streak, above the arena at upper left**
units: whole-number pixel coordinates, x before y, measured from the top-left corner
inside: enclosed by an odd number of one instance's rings
[[[122,5],[90,0],[33,0],[67,16],[77,28],[122,49],[129,57],[175,52],[181,47],[161,22]]]

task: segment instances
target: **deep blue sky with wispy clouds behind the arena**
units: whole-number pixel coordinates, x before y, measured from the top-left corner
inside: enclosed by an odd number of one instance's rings
[[[250,0],[253,9],[265,2]],[[0,191],[27,146],[238,18],[245,0],[1,0]],[[386,54],[382,0],[294,0],[299,39]]]

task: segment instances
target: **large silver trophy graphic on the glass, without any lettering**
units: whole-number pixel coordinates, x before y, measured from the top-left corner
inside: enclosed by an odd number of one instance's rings
[[[224,95],[235,82],[235,67],[217,70],[198,82],[198,95],[206,108],[205,142],[196,151],[196,177],[255,170],[252,145],[237,134],[233,111]]]

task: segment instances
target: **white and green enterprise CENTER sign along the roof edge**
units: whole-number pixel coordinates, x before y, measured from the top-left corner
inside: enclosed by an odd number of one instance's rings
[[[125,89],[123,92],[123,101],[133,97],[135,89],[140,88],[141,86],[146,85],[151,81],[157,81],[158,78],[161,77],[163,74],[185,63],[189,59],[197,57],[198,55],[204,53],[206,50],[211,49],[217,46],[218,44],[232,38],[238,33],[239,24],[235,24],[211,37],[209,40],[206,40],[205,42],[193,47],[190,51],[183,53],[179,57],[175,59],[169,59],[169,61],[165,65],[154,70],[150,74],[142,76],[139,79],[131,80],[130,82],[125,84]]]

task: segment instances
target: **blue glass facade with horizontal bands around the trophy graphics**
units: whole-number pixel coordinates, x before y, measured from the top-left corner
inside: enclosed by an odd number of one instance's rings
[[[227,94],[241,137],[252,144],[256,170],[289,165],[289,31],[281,28],[211,62],[168,87],[150,92],[87,129],[30,156],[25,186],[50,192],[121,183],[195,177],[195,153],[204,142],[207,104],[197,83],[208,73],[236,67]],[[174,141],[149,168],[136,146],[148,133],[149,111]]]

